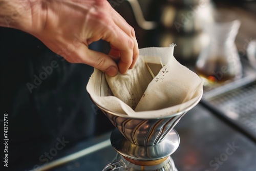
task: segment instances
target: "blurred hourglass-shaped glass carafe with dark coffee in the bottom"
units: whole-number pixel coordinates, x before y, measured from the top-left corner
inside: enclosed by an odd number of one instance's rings
[[[210,83],[241,78],[242,65],[234,44],[239,28],[236,13],[226,9],[216,9],[212,17],[204,21],[203,29],[210,42],[198,57],[196,71]]]

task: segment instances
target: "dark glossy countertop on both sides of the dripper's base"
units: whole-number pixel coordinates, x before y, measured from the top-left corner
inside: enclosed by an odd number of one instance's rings
[[[175,130],[180,135],[181,142],[172,158],[180,171],[256,170],[255,142],[202,104],[185,114]],[[110,144],[110,134],[81,142],[67,156],[44,168],[55,171],[102,170],[116,155]],[[63,161],[66,162],[61,163]]]

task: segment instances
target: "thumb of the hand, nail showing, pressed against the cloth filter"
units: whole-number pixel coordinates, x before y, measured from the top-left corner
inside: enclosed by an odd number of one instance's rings
[[[118,73],[117,63],[108,55],[88,49],[85,63],[97,68],[109,76],[115,76]]]

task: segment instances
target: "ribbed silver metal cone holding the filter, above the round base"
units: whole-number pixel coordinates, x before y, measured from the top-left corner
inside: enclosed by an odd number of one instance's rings
[[[140,146],[151,146],[162,142],[165,136],[173,130],[182,116],[193,108],[201,97],[185,110],[159,118],[133,118],[129,115],[114,113],[95,103],[110,119],[120,133],[131,143]]]

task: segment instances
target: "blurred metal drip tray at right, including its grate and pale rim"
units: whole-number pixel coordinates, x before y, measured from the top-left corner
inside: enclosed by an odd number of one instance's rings
[[[256,141],[256,70],[242,63],[241,79],[205,88],[201,102]]]

